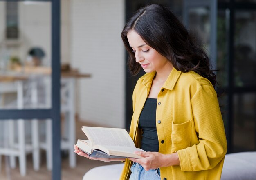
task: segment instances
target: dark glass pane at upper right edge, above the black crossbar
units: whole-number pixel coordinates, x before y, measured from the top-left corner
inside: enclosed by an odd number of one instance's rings
[[[234,83],[256,85],[256,12],[236,11],[234,35]]]

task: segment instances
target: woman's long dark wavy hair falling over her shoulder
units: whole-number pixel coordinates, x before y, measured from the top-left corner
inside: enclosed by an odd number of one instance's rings
[[[128,51],[128,66],[133,75],[141,66],[129,45],[127,33],[134,30],[150,47],[165,56],[175,69],[182,72],[195,71],[207,78],[213,87],[216,75],[210,70],[207,53],[193,40],[186,27],[166,7],[150,4],[140,8],[125,25],[121,37]]]

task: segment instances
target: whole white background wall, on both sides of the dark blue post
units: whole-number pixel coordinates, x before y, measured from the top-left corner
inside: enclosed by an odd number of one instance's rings
[[[61,62],[92,74],[92,78],[78,81],[76,94],[76,112],[89,123],[125,124],[124,6],[124,0],[61,0]],[[0,1],[0,41],[4,38],[4,7],[5,2]],[[51,3],[19,2],[19,26],[21,43],[10,47],[11,55],[24,62],[28,49],[40,46],[49,63]]]

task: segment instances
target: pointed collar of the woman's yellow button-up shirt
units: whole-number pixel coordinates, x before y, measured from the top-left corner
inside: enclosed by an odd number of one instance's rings
[[[151,73],[146,73],[144,76],[142,76],[142,83],[146,86],[149,82],[151,83],[153,78],[155,77],[156,71],[153,71]],[[175,68],[172,69],[171,73],[169,74],[167,80],[165,81],[163,88],[173,90],[177,80],[179,79],[181,75],[181,71],[177,71]]]

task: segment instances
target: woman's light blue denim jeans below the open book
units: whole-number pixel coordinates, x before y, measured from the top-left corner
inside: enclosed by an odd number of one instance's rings
[[[140,164],[133,163],[129,180],[160,180],[160,168],[146,171]]]

